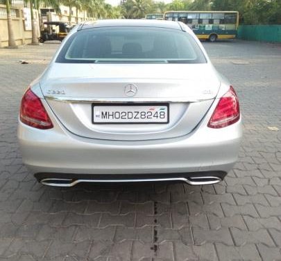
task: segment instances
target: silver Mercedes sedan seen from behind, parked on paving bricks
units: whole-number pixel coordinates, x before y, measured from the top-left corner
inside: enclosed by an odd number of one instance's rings
[[[24,164],[42,184],[214,184],[237,161],[234,88],[181,22],[76,26],[24,93]]]

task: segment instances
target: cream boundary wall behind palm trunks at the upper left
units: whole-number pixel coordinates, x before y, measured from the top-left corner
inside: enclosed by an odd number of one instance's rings
[[[31,43],[31,31],[24,30],[24,17],[22,8],[11,7],[12,28],[15,33],[17,45],[26,45]],[[6,15],[6,6],[0,5],[0,47],[8,46],[8,24]]]

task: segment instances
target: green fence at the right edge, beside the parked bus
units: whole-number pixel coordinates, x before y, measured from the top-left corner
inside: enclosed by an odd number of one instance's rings
[[[240,25],[238,38],[262,42],[281,42],[281,25]]]

